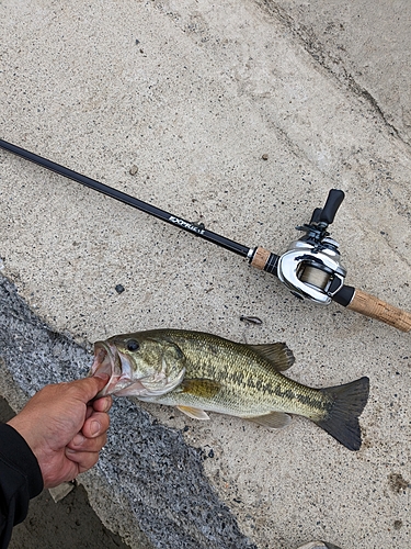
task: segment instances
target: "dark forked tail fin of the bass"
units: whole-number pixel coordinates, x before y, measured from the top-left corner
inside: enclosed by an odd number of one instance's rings
[[[344,385],[328,386],[320,391],[333,402],[328,416],[317,421],[317,425],[349,450],[359,450],[362,439],[358,417],[368,400],[369,379],[364,377]]]

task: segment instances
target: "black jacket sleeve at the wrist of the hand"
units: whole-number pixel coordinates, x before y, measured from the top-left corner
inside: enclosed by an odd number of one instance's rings
[[[13,526],[24,520],[28,500],[43,490],[38,462],[13,427],[0,425],[0,549],[10,542]]]

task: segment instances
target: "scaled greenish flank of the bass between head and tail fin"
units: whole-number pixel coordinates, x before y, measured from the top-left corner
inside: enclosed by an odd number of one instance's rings
[[[186,337],[171,334],[186,357],[185,377],[214,379],[221,389],[213,399],[184,393],[176,388],[156,399],[163,404],[206,406],[208,411],[229,410],[248,417],[273,410],[319,418],[328,413],[331,400],[273,371],[267,361],[249,347],[206,334],[206,337]]]

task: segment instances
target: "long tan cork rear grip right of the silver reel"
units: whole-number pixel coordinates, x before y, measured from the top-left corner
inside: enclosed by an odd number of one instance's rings
[[[385,322],[402,332],[411,330],[411,314],[369,295],[362,290],[355,290],[354,296],[346,309],[364,314],[370,318]]]

